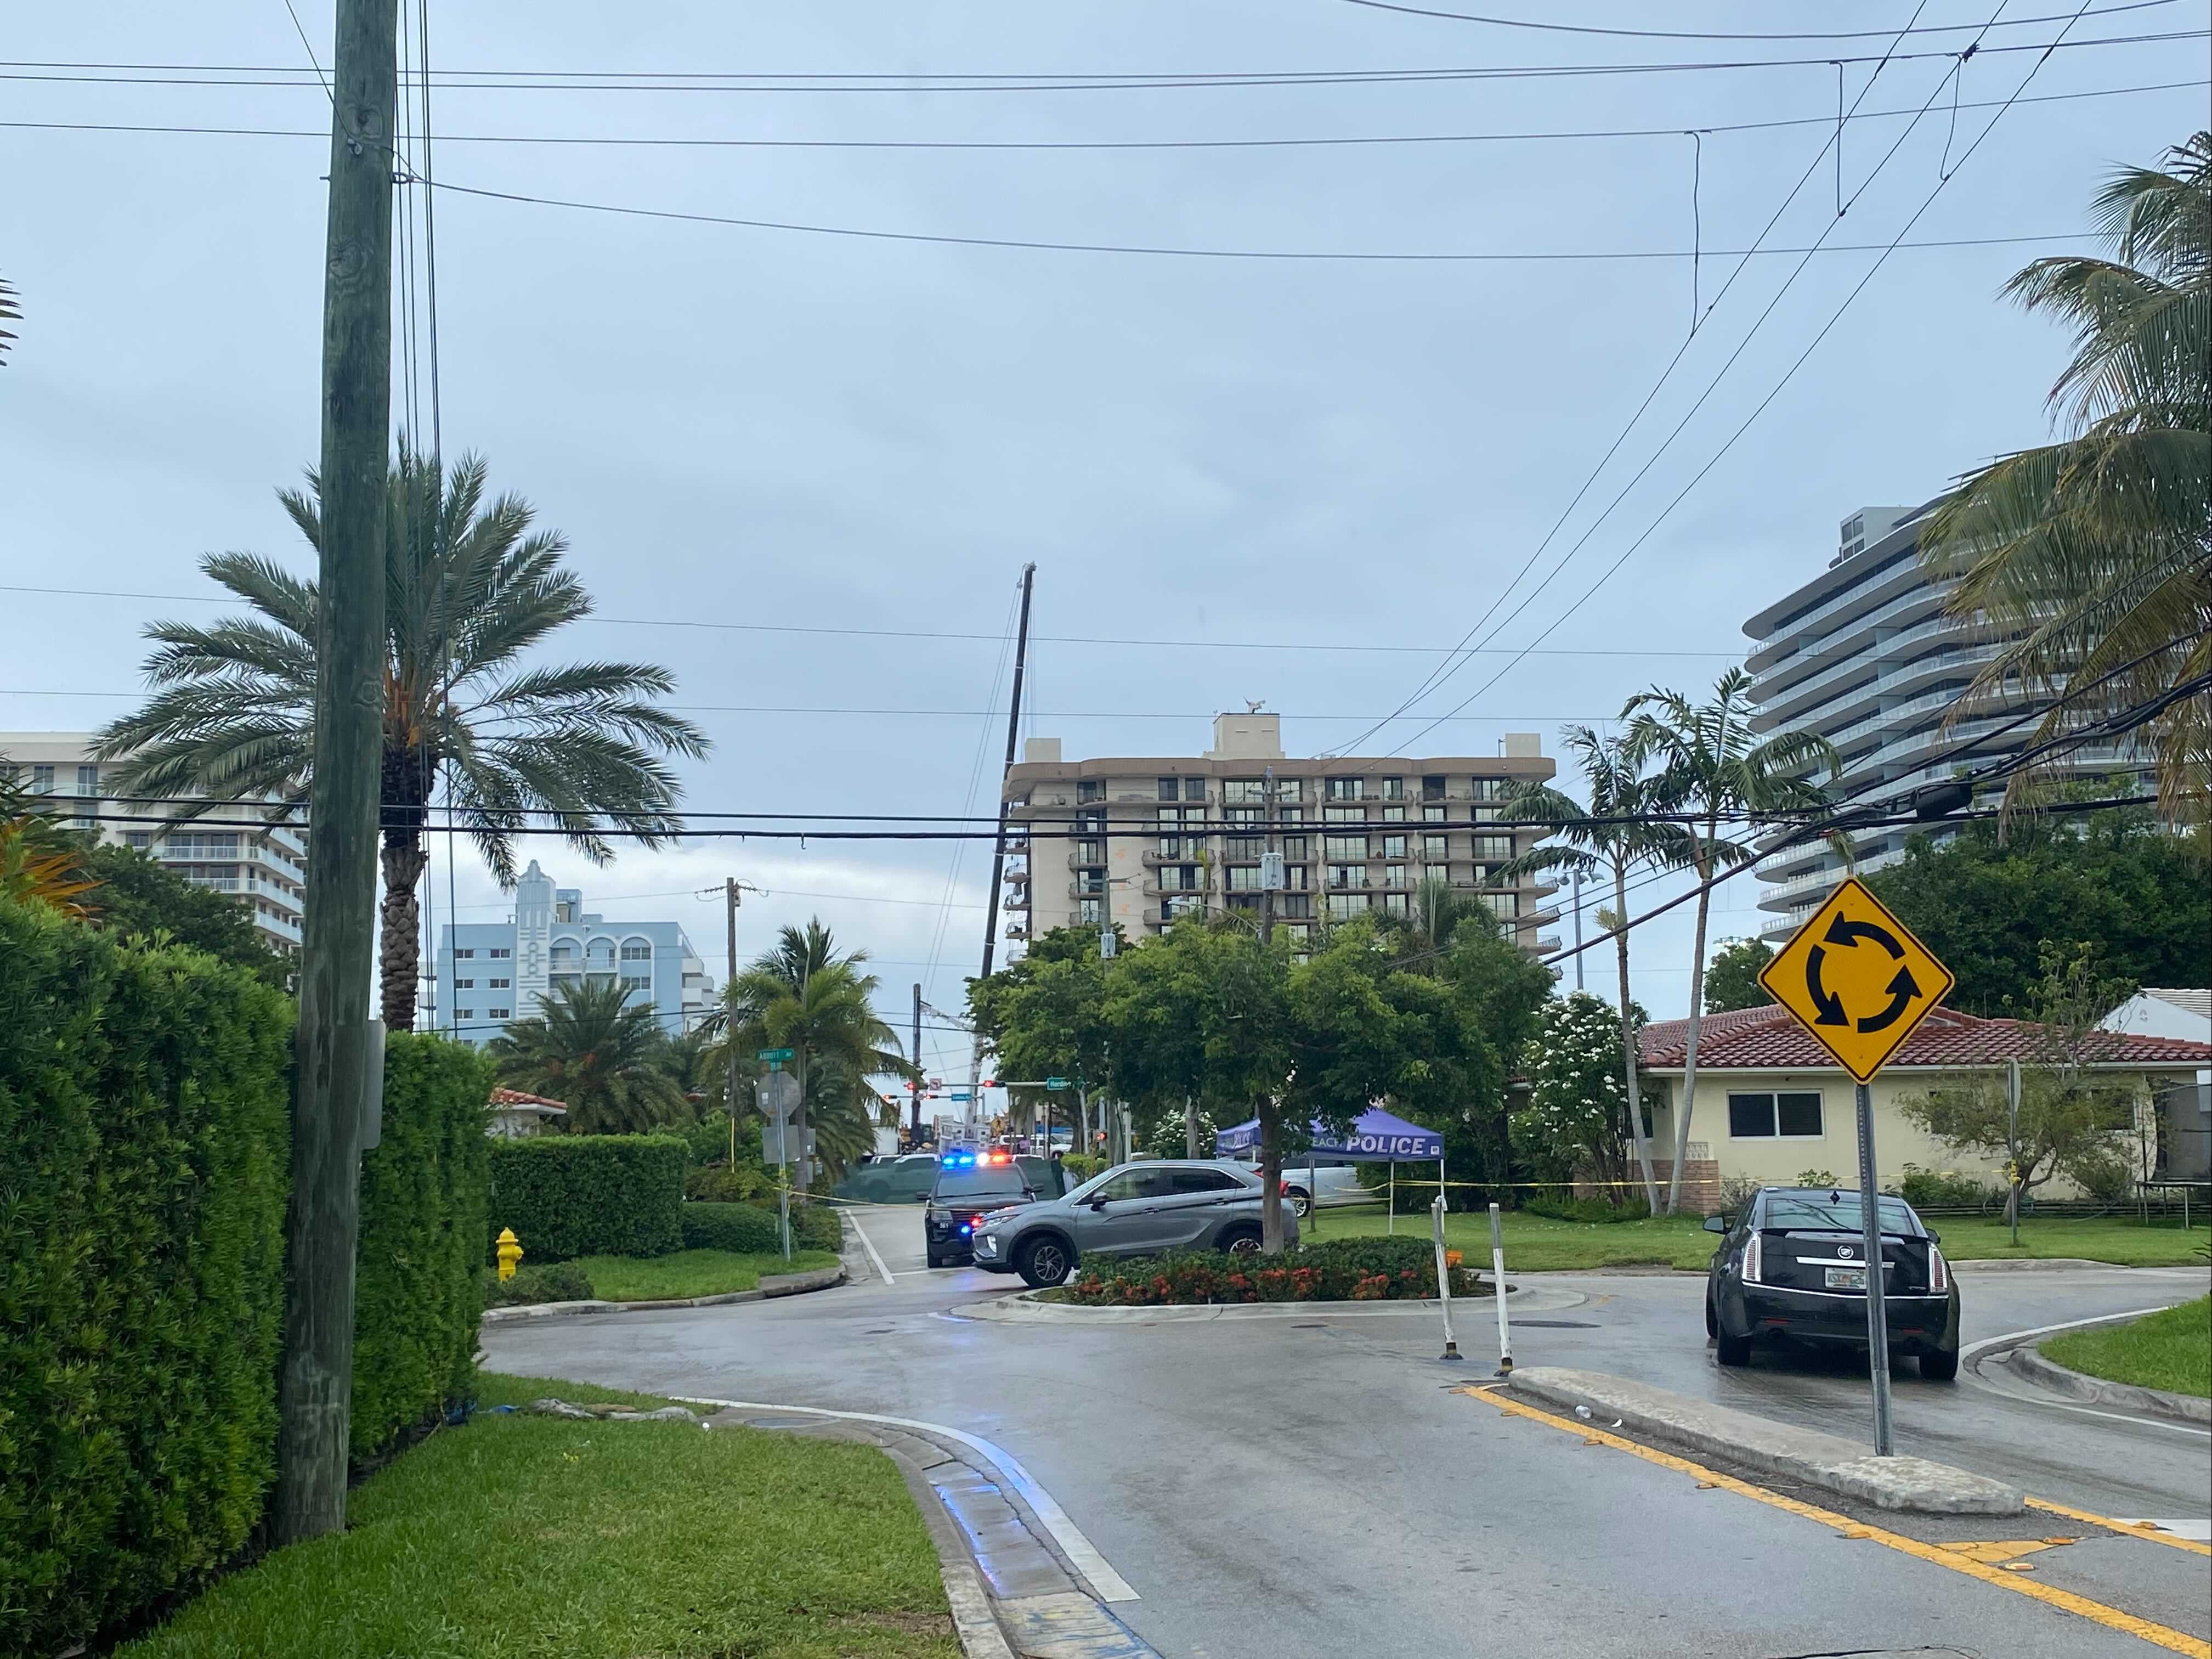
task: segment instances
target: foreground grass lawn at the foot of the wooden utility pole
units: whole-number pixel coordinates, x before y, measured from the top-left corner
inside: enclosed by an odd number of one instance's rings
[[[639,1398],[484,1376],[482,1402]],[[131,1659],[958,1659],[938,1557],[872,1447],[478,1413],[347,1531],[234,1573]]]

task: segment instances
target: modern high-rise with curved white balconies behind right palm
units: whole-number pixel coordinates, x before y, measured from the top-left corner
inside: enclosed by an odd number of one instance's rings
[[[2035,734],[2022,714],[2039,703],[2026,695],[1975,699],[1969,719],[1947,723],[2006,635],[1980,615],[1944,615],[1953,582],[1920,568],[1920,526],[1936,504],[1851,513],[1827,568],[1743,624],[1754,641],[1752,728],[1825,737],[1843,757],[1834,792],[1854,803],[1902,805],[1916,787],[2015,754]],[[2086,748],[2066,768],[2095,774],[2128,761],[2124,750]],[[1854,834],[1858,874],[1902,858],[1909,834]],[[1759,907],[1772,914],[1763,933],[1781,940],[1827,898],[1843,860],[1814,843],[1763,858],[1759,876]]]

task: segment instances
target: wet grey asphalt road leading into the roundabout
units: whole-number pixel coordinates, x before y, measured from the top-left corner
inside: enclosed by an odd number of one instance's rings
[[[962,1318],[1018,1281],[922,1267],[918,1210],[865,1210],[896,1283],[737,1307],[487,1327],[498,1369],[681,1396],[878,1411],[982,1436],[1015,1458],[1141,1599],[1115,1606],[1161,1655],[1966,1655],[2154,1652],[2126,1615],[2212,1637],[2212,1562],[2031,1513],[1876,1524],[1931,1542],[2081,1542],[2031,1559],[2084,1617],[1458,1391],[1433,1314],[1141,1325]],[[1721,1371],[1701,1281],[1546,1274],[1584,1296],[1522,1325],[1522,1365],[1579,1365],[1763,1416],[1860,1433],[1865,1365]],[[2205,1274],[1962,1272],[1964,1329],[2157,1307]],[[2203,1520],[2212,1436],[2064,1411],[1978,1378],[1898,1367],[1898,1449],[2101,1515]],[[1997,1374],[2002,1385],[2002,1374]],[[1834,1506],[1825,1493],[1787,1493]],[[2026,1579],[2028,1575],[2022,1575]]]

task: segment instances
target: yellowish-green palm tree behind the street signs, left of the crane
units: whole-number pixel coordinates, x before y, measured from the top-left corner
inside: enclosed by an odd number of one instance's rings
[[[785,927],[776,945],[754,958],[723,991],[723,1006],[710,1029],[739,1055],[759,1048],[790,1048],[799,1077],[794,1128],[805,1141],[814,1126],[814,1150],[827,1172],[838,1172],[872,1144],[885,1108],[872,1077],[911,1077],[914,1066],[898,1053],[898,1033],[874,1009],[878,980],[863,971],[867,951],[838,956],[836,938],[821,920],[803,929]],[[728,1066],[730,1048],[721,1051]],[[739,1062],[745,1064],[743,1060]],[[807,1188],[805,1161],[794,1164],[794,1186]]]

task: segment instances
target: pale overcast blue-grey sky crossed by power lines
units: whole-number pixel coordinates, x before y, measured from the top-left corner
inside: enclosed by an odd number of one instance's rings
[[[1033,560],[1022,728],[1068,757],[1197,754],[1250,699],[1314,754],[1431,670],[1363,752],[1491,754],[1506,730],[1555,752],[1562,721],[1741,661],[1743,619],[1816,575],[1854,509],[2044,440],[2066,338],[2004,279],[2095,248],[2110,168],[2208,119],[2201,33],[2008,51],[2066,27],[2053,0],[2013,0],[2062,22],[1997,27],[1964,66],[1989,20],[1966,0],[1489,4],[1714,35],[1962,27],[1874,73],[1898,35],[1644,40],[1347,0],[431,2],[438,429],[571,542],[597,615],[544,659],[675,670],[714,741],[684,763],[695,810],[987,812]],[[332,7],[292,11],[9,9],[0,728],[131,708],[139,630],[221,613],[204,553],[307,568],[274,491],[319,445],[330,108],[307,58],[330,64]],[[2205,24],[2205,0],[2090,0],[2068,38]],[[1467,73],[1745,60],[1796,62]],[[1374,71],[1420,73],[1345,80]],[[2152,91],[2059,97],[2112,88]],[[1743,124],[1765,126],[1723,131]],[[117,126],[254,133],[88,131]],[[1420,142],[1252,144],[1352,137]],[[1006,144],[1035,148],[945,148]],[[1097,148],[1130,144],[1175,148]],[[1847,250],[1732,257],[1816,241]],[[1568,252],[1604,257],[1526,257]],[[420,248],[414,268],[420,314]],[[1489,653],[1447,657],[1475,628]],[[531,852],[611,918],[684,922],[717,975],[739,876],[763,889],[741,951],[818,914],[900,1024],[916,980],[958,1013],[980,953],[982,847]],[[507,909],[467,847],[431,902]],[[1747,880],[1719,889],[1714,938],[1756,920]],[[1593,953],[1593,989],[1610,975]],[[1686,1013],[1688,907],[1635,933],[1635,989]],[[931,1068],[964,1057],[925,1031]]]

